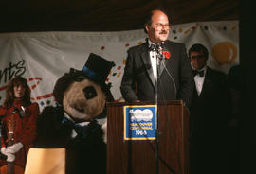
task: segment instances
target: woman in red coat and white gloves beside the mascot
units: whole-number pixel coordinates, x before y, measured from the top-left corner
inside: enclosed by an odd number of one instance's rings
[[[38,104],[30,101],[27,80],[22,77],[13,78],[0,107],[1,153],[7,156],[7,160],[1,160],[0,165],[13,162],[25,168],[28,149],[32,147],[36,136],[39,113]]]

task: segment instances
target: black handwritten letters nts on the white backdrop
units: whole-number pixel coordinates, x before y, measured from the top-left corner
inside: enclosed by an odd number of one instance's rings
[[[9,62],[9,67],[0,70],[0,84],[7,83],[15,76],[22,76],[26,72],[25,60],[17,63]]]

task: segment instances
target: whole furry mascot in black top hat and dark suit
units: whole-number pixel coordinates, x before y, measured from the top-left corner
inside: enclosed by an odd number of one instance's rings
[[[115,66],[91,53],[82,71],[71,68],[59,78],[38,121],[36,148],[65,148],[65,173],[105,173],[105,103],[114,101],[105,80]]]

